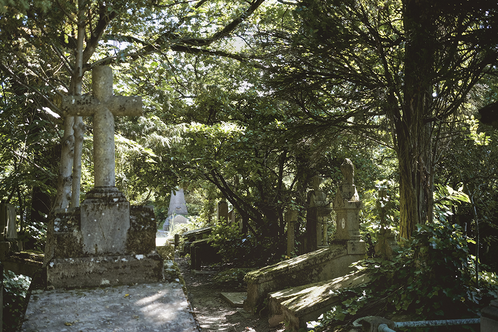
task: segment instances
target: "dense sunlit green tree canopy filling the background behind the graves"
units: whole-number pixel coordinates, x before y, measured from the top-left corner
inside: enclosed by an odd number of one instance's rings
[[[91,93],[85,73],[98,65],[113,67],[117,95],[144,96],[143,116],[116,119],[117,185],[134,203],[160,212],[171,189],[183,186],[204,196],[199,219],[210,222],[213,201],[225,197],[243,233],[254,243],[267,237],[268,245],[284,240],[284,213],[296,209],[305,238],[311,178],[328,178],[322,187],[332,200],[347,157],[366,206],[389,187],[389,225],[402,238],[448,211],[494,229],[494,208],[484,212],[491,202],[478,198],[495,189],[495,137],[473,114],[496,100],[496,4],[0,6],[8,41],[0,46],[0,199],[19,207],[21,229],[32,226],[42,237],[50,210],[68,206],[72,179],[80,183],[72,163],[80,150],[81,198],[92,187],[92,123],[62,118],[60,104],[64,95]],[[86,133],[74,134],[82,124]],[[489,181],[475,174],[476,159]],[[476,213],[442,203],[447,186],[473,197]],[[73,195],[71,205],[79,200]],[[378,223],[379,211],[365,210],[365,224]]]

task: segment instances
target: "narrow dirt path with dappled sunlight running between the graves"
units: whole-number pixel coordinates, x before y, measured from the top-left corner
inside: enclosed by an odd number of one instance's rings
[[[202,332],[284,331],[283,325],[270,329],[265,318],[253,316],[242,308],[232,308],[221,298],[222,292],[246,292],[244,285],[220,285],[213,281],[215,270],[212,274],[194,274],[185,258],[175,258],[175,261],[182,272]]]

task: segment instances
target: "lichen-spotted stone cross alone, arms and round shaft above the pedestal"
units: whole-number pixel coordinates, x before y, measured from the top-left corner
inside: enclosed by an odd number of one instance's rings
[[[93,116],[95,187],[116,186],[114,117],[140,116],[141,97],[113,96],[113,70],[92,69],[93,96],[66,96],[62,111],[66,116]]]

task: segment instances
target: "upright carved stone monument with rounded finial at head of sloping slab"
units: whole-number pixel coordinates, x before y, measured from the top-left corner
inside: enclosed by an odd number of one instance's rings
[[[360,236],[360,210],[362,201],[354,184],[355,167],[349,159],[345,159],[341,165],[344,180],[339,185],[333,203],[336,212],[336,235],[337,240],[348,240],[348,253],[366,252],[365,242]]]

